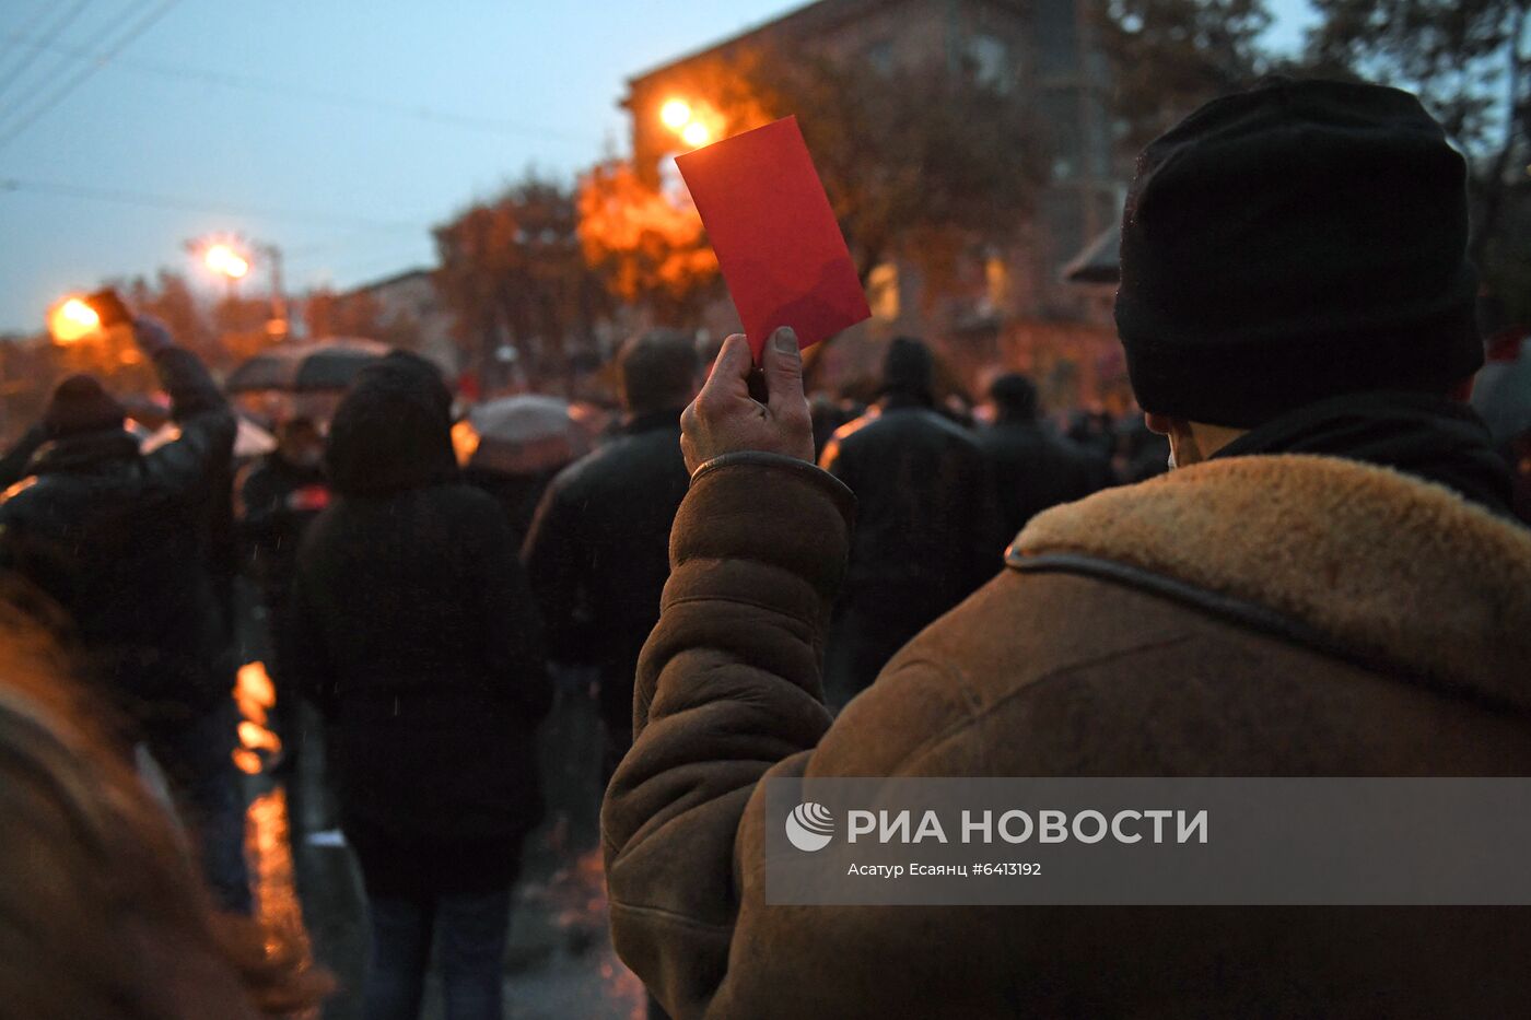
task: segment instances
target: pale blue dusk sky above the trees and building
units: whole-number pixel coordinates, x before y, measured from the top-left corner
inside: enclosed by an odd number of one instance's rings
[[[625,80],[782,0],[0,0],[0,332],[185,242],[280,245],[289,293],[435,260],[527,167],[626,150]],[[1295,44],[1306,0],[1275,0]],[[246,288],[265,286],[256,266]]]

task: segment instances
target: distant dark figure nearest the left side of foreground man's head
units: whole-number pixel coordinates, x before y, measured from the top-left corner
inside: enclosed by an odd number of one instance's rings
[[[1056,436],[1036,417],[1036,386],[1010,372],[989,386],[995,420],[978,433],[989,455],[1004,533],[1015,536],[1049,507],[1084,499],[1112,484],[1112,464]]]

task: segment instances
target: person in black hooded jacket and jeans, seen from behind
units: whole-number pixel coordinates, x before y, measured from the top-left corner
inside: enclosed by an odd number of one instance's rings
[[[436,933],[447,1015],[501,1015],[510,890],[542,815],[540,626],[505,515],[459,479],[450,404],[415,355],[358,377],[277,631],[329,721],[371,908],[366,1017],[418,1015]]]

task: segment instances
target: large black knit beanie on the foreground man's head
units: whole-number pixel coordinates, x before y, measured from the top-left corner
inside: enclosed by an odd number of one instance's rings
[[[1138,158],[1116,329],[1144,410],[1249,427],[1484,363],[1467,175],[1413,95],[1272,78]]]

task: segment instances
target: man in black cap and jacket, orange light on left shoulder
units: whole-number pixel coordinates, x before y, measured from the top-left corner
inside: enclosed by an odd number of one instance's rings
[[[989,466],[977,440],[934,409],[932,369],[922,342],[896,337],[882,398],[821,456],[856,493],[850,567],[824,654],[833,706],[1003,567]]]

